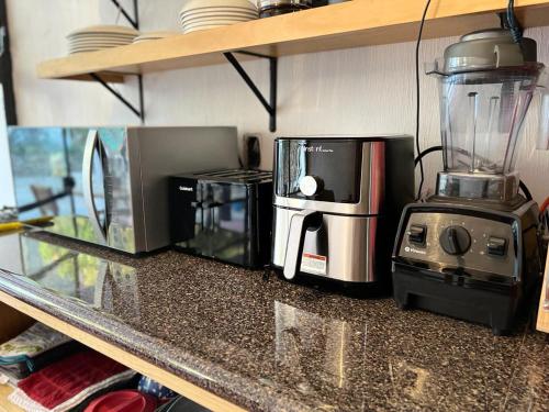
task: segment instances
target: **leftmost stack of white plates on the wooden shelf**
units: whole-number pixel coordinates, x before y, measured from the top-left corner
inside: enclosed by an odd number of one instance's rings
[[[123,25],[92,25],[67,35],[69,54],[96,52],[132,44],[139,32]]]

